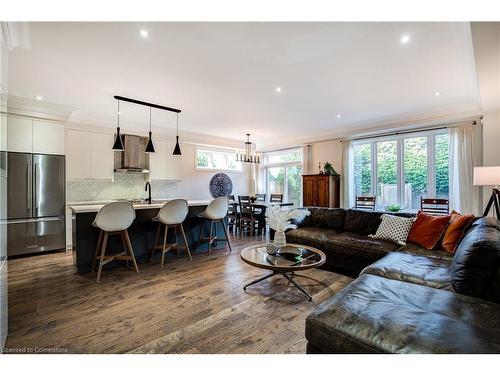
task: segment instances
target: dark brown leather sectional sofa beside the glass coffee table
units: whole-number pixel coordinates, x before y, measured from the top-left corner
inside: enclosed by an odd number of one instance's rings
[[[360,274],[307,317],[308,353],[500,353],[498,220],[476,220],[451,255],[368,237],[381,212],[309,209],[287,241]]]

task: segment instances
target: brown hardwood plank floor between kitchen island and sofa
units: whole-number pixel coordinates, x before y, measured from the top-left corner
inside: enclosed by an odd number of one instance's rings
[[[304,353],[305,318],[352,281],[313,269],[299,276],[308,302],[283,277],[243,291],[266,273],[240,259],[256,237],[232,237],[211,256],[77,275],[71,252],[9,260],[6,352]],[[39,348],[39,349],[36,349]]]

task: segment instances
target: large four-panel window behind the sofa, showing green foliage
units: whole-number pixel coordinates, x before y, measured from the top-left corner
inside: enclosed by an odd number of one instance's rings
[[[354,194],[375,195],[378,209],[418,209],[422,197],[447,199],[449,143],[442,130],[355,142]]]

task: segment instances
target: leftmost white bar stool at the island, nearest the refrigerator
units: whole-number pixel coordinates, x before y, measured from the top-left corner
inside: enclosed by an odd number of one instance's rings
[[[99,260],[99,269],[97,271],[97,282],[101,280],[102,266],[112,262],[113,260],[132,260],[135,272],[139,273],[137,262],[134,257],[134,250],[130,243],[127,229],[135,220],[135,210],[129,202],[113,202],[103,206],[97,213],[92,225],[100,229],[99,239],[94,253],[94,262],[92,269],[95,269],[95,264]],[[106,245],[108,237],[112,235],[120,235],[123,251],[113,255],[106,255]],[[99,250],[101,255],[99,255]],[[127,255],[128,253],[128,255]]]

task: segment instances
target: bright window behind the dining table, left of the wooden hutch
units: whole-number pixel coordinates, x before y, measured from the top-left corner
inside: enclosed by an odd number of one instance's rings
[[[283,194],[284,202],[302,205],[302,150],[269,152],[264,155],[267,199]]]

